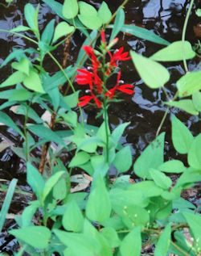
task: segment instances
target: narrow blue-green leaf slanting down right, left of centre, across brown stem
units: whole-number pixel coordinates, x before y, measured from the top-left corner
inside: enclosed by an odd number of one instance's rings
[[[50,128],[47,128],[42,124],[29,125],[28,129],[36,136],[46,139],[47,141],[54,141],[55,143],[65,146],[64,141],[60,136],[56,134],[56,132],[51,131]]]

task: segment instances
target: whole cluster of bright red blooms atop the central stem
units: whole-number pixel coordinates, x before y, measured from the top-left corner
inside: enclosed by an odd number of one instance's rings
[[[105,40],[105,32],[101,32],[101,40],[102,44],[106,48],[106,40]],[[114,94],[117,90],[132,95],[134,93],[133,91],[133,85],[130,84],[124,84],[120,85],[120,78],[121,78],[121,71],[117,73],[117,83],[116,85],[110,89],[107,90],[105,88],[104,82],[100,78],[100,71],[102,69],[102,64],[100,63],[99,59],[96,57],[96,54],[91,46],[84,46],[84,51],[88,55],[88,57],[92,61],[92,72],[86,70],[86,69],[77,69],[77,76],[76,76],[76,82],[79,85],[88,85],[90,90],[90,95],[85,95],[79,99],[78,106],[84,107],[87,105],[91,100],[96,103],[96,107],[101,107],[102,103],[100,102],[100,99],[103,97],[108,97],[109,99],[113,99]],[[107,51],[109,54],[110,61],[105,65],[105,73],[102,72],[102,76],[107,76],[113,71],[114,68],[117,67],[118,61],[127,61],[130,59],[129,52],[124,52],[124,48],[119,48],[116,52],[112,53]]]

